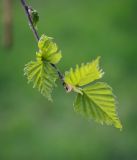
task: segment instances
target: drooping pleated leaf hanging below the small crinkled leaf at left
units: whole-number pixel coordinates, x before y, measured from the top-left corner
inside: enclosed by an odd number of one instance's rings
[[[33,88],[37,88],[43,96],[52,100],[51,93],[56,86],[57,74],[48,62],[41,60],[29,62],[25,65],[24,75],[27,76],[28,83],[33,83]]]

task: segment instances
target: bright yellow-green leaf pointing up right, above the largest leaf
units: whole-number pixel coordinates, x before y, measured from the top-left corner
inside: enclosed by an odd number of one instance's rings
[[[84,86],[97,79],[100,79],[103,75],[101,69],[99,69],[99,59],[92,61],[91,63],[82,64],[80,67],[77,65],[76,69],[70,69],[65,73],[65,82],[72,86]]]

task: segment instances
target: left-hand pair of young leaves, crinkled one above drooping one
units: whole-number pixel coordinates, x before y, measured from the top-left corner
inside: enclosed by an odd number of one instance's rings
[[[28,83],[33,83],[40,93],[52,101],[51,93],[56,86],[57,72],[52,64],[57,64],[61,59],[61,52],[58,50],[53,38],[42,35],[38,42],[39,51],[36,52],[36,60],[25,65],[24,74]]]

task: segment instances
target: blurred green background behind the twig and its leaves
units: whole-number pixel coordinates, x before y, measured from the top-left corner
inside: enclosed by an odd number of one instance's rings
[[[0,1],[2,2],[2,0]],[[0,160],[137,160],[137,0],[30,0],[39,33],[62,49],[62,72],[101,56],[119,100],[123,131],[73,111],[74,94],[60,82],[54,102],[23,76],[37,44],[19,0],[14,0],[14,45],[0,46]],[[3,36],[0,3],[0,38]]]

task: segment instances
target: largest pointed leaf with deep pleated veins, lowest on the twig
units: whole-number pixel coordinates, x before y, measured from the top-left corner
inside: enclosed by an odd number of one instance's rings
[[[121,122],[116,114],[115,96],[109,85],[98,82],[87,86],[78,94],[74,102],[75,111],[95,119],[101,124],[114,125],[122,129]]]

